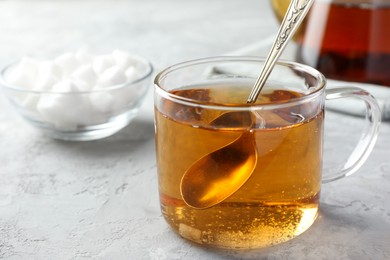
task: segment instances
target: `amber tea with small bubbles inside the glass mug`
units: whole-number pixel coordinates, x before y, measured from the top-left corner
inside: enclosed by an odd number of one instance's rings
[[[207,103],[245,101],[242,86],[198,87],[174,91]],[[229,94],[227,94],[229,93]],[[258,103],[287,102],[299,96],[285,90],[262,94]],[[292,111],[271,110],[254,115],[248,129],[207,127],[222,112],[189,108],[165,100],[156,111],[157,161],[161,208],[181,236],[224,248],[254,248],[291,239],[305,231],[318,211],[323,112],[305,117],[304,105]],[[254,112],[255,113],[255,112]],[[244,120],[243,120],[244,121]],[[195,209],[180,194],[180,181],[199,158],[252,131],[258,160],[249,180],[216,206]],[[226,158],[228,163],[229,158]],[[218,167],[218,166],[217,166]]]

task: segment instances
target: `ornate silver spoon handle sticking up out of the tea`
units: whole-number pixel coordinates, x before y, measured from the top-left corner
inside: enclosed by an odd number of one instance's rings
[[[290,2],[287,12],[284,15],[283,22],[280,25],[276,40],[272,45],[271,51],[264,63],[264,67],[261,70],[260,76],[257,78],[256,83],[249,94],[247,100],[248,104],[256,101],[269,74],[275,66],[277,59],[282,54],[284,48],[298,29],[299,25],[302,23],[303,19],[306,17],[306,14],[313,3],[314,0],[292,0]]]

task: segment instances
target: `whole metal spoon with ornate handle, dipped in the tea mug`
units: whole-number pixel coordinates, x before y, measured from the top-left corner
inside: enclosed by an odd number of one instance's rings
[[[248,97],[247,103],[256,102],[277,59],[305,18],[314,0],[292,0],[280,25],[276,40],[264,63],[260,76]],[[226,112],[210,125],[225,125],[232,121],[232,114]],[[184,173],[180,193],[184,202],[197,209],[212,207],[233,195],[252,175],[257,164],[257,149],[252,131],[251,112],[241,112],[242,121],[248,130],[233,142],[203,156]],[[241,125],[246,125],[241,122]]]

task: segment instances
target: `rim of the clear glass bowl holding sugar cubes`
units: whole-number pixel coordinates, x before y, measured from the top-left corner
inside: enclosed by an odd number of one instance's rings
[[[143,72],[140,76],[136,77],[134,80],[126,81],[121,84],[112,85],[109,87],[99,88],[99,89],[93,89],[88,91],[77,91],[77,92],[61,92],[61,91],[52,91],[52,90],[33,90],[33,89],[27,89],[24,87],[16,86],[14,84],[11,84],[7,82],[6,80],[6,72],[11,69],[13,66],[17,65],[18,62],[20,62],[21,59],[17,59],[16,61],[13,61],[11,63],[8,63],[0,70],[0,87],[13,90],[13,91],[19,91],[24,93],[31,93],[31,94],[61,94],[61,95],[74,95],[74,94],[90,94],[90,93],[101,93],[101,92],[107,92],[111,90],[121,89],[125,88],[127,86],[131,86],[133,84],[139,83],[148,77],[150,77],[153,73],[153,65],[152,63],[139,55],[131,54],[131,57],[136,58],[136,60],[141,61],[144,65],[146,65],[146,71]]]

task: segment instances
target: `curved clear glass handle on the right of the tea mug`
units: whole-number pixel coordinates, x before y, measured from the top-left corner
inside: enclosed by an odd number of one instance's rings
[[[339,98],[358,98],[363,100],[366,105],[367,125],[346,162],[343,165],[324,169],[323,183],[349,176],[362,166],[374,148],[381,122],[379,105],[375,98],[367,91],[357,87],[342,87],[326,90],[326,100]]]

